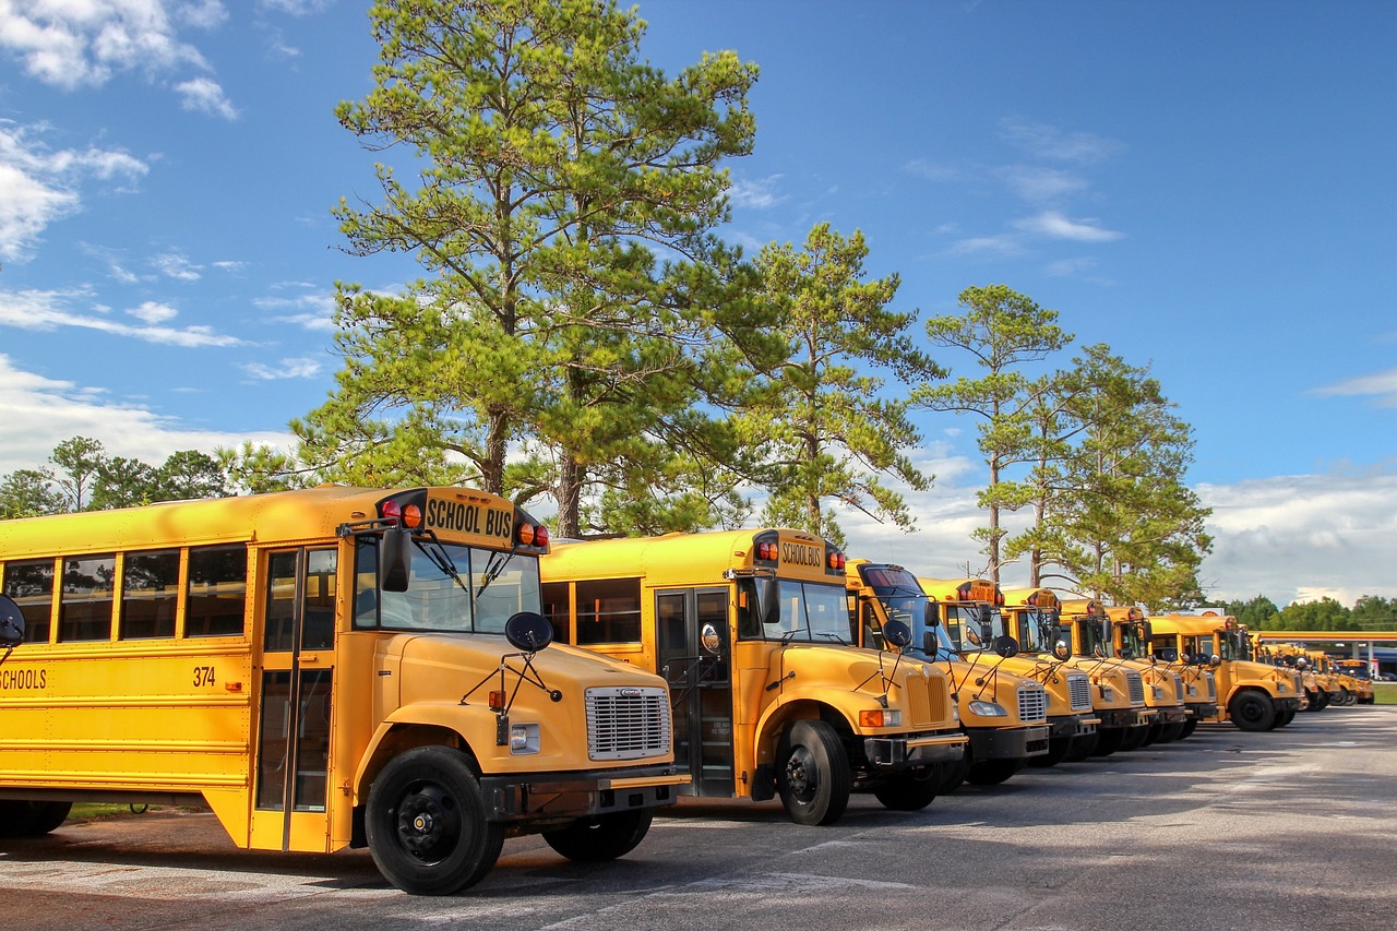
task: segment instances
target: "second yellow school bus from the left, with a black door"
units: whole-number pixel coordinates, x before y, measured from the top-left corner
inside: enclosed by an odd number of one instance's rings
[[[923,808],[964,755],[946,675],[851,646],[844,555],[787,528],[559,544],[542,561],[560,639],[658,671],[692,791],[835,822],[851,791]]]

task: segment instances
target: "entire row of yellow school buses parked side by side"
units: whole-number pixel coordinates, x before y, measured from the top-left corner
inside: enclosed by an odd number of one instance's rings
[[[852,793],[915,811],[1358,693],[1232,618],[788,528],[552,544],[465,488],[0,521],[0,837],[74,801],[201,804],[240,847],[366,846],[425,895],[521,833],[620,857],[680,794],[828,825]]]

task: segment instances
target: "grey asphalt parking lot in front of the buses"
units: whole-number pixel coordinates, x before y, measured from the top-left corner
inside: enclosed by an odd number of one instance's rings
[[[450,897],[363,851],[236,850],[156,812],[0,840],[6,928],[1391,928],[1397,706],[1299,714],[963,787],[921,812],[856,795],[828,828],[780,804],[685,800],[630,856],[536,837]]]

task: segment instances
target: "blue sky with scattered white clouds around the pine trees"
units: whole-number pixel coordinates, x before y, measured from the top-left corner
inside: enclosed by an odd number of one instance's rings
[[[761,68],[731,240],[861,229],[923,317],[1030,295],[1193,424],[1210,591],[1397,596],[1397,4],[638,7],[665,71]],[[282,443],[324,400],[334,282],[416,275],[330,215],[376,196],[332,113],[370,87],[366,8],[0,0],[0,472],[75,435],[154,463]],[[921,530],[849,516],[849,551],[975,572],[975,425],[918,426]]]

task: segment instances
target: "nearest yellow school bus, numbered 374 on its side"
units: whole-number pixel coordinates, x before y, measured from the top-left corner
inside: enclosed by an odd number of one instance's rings
[[[367,846],[407,892],[506,835],[619,857],[686,780],[658,677],[549,646],[546,530],[468,488],[0,521],[0,825],[207,804],[239,847]]]

